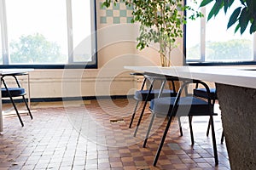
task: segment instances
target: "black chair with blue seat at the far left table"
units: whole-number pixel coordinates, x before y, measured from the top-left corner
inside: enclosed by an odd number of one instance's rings
[[[28,111],[28,114],[29,116],[31,117],[31,119],[33,118],[32,117],[32,113],[29,109],[29,106],[27,105],[27,102],[26,102],[26,99],[25,99],[25,95],[26,95],[26,90],[25,88],[21,88],[20,87],[20,82],[18,81],[17,79],[17,76],[23,76],[23,75],[26,75],[27,73],[15,73],[15,74],[7,74],[7,75],[4,75],[3,77],[1,77],[1,81],[3,82],[3,86],[4,88],[1,88],[1,92],[2,92],[2,98],[9,98],[12,105],[14,106],[15,108],[15,111],[16,111],[16,114],[20,120],[20,124],[22,127],[24,127],[24,123],[22,122],[21,120],[21,117],[20,117],[20,113],[15,105],[15,101],[13,98],[15,97],[21,97],[26,105],[26,109]],[[5,81],[5,78],[6,77],[13,77],[15,79],[15,83],[16,83],[16,87],[15,88],[10,88],[8,87],[6,81]]]

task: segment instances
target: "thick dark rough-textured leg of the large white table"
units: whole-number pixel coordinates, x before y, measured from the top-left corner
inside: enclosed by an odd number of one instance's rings
[[[256,89],[216,83],[231,169],[256,169]]]

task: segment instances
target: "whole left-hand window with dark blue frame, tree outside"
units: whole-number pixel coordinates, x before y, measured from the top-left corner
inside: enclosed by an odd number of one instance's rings
[[[95,1],[0,2],[2,67],[96,68]]]

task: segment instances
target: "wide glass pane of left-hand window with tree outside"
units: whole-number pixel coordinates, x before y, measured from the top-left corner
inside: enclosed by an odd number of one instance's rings
[[[10,64],[67,63],[63,0],[6,1]]]

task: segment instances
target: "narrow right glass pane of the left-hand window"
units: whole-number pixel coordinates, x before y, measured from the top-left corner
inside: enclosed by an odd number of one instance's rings
[[[73,20],[73,62],[91,61],[91,16],[90,2],[72,1]]]

